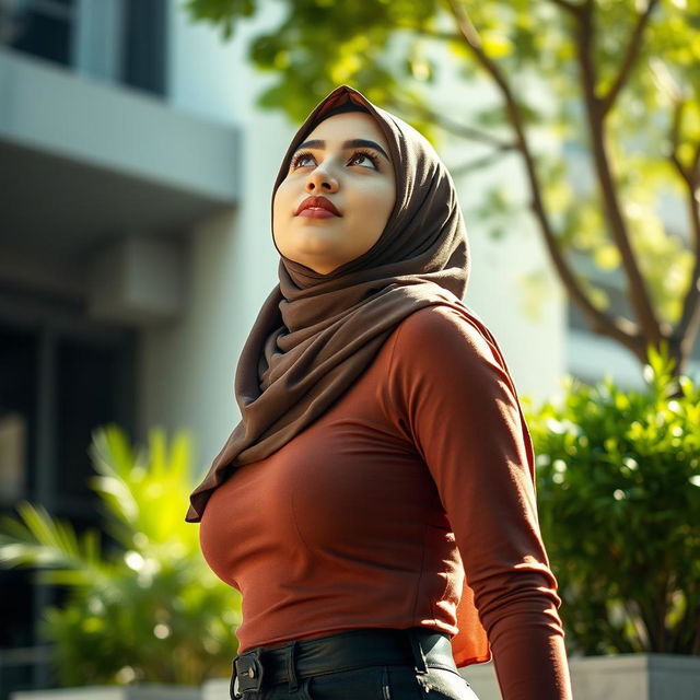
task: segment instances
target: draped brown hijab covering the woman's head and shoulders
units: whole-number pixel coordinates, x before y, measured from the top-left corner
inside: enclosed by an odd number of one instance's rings
[[[469,248],[450,173],[421,133],[348,85],[323,100],[292,139],[272,201],[299,144],[348,101],[364,107],[386,137],[396,203],[378,241],[328,275],[281,257],[279,284],[236,370],[242,420],[191,492],[188,523],[201,521],[211,493],[236,467],[272,454],[324,413],[406,316],[464,296]]]

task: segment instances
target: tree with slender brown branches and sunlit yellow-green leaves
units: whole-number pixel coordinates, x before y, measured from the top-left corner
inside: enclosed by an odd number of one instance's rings
[[[230,38],[262,4],[183,7]],[[517,154],[551,264],[592,330],[642,365],[649,346],[666,340],[675,372],[686,371],[700,329],[700,0],[293,0],[285,9],[249,46],[276,78],[259,106],[300,121],[349,83],[429,138],[444,130],[486,144],[490,154],[467,172]],[[498,107],[466,124],[430,106],[424,88],[445,56],[465,85],[490,81]],[[553,113],[528,101],[527,77],[551,95]],[[592,191],[575,191],[580,173],[567,177],[563,158],[536,151],[535,128],[587,154]],[[662,221],[669,195],[685,200],[689,235]],[[510,207],[494,189],[483,209],[503,219]],[[625,280],[629,313],[612,312],[595,281],[611,275]]]

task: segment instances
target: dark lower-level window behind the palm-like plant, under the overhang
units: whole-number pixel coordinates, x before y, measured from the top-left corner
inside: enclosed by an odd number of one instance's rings
[[[115,422],[133,439],[136,332],[19,294],[0,302],[0,516],[27,500],[79,534],[100,527],[91,434]],[[37,585],[32,573],[0,569],[0,700],[58,681],[38,621],[67,590]]]

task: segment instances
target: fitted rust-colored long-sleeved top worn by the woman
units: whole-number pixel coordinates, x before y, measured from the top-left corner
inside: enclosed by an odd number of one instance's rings
[[[492,651],[504,700],[570,698],[533,457],[478,324],[409,315],[317,421],[212,493],[200,542],[242,592],[240,652],[424,626],[455,635],[458,666]]]

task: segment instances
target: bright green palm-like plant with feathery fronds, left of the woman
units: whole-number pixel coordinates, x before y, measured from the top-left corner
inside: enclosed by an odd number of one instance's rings
[[[188,435],[176,434],[168,450],[152,430],[148,451],[135,454],[108,425],[93,432],[90,454],[90,486],[116,550],[103,551],[97,530],[79,536],[26,501],[19,518],[0,518],[0,565],[36,568],[39,583],[70,587],[42,626],[59,682],[199,685],[230,675],[240,596],[211,572],[198,528],[184,520],[194,488]]]

